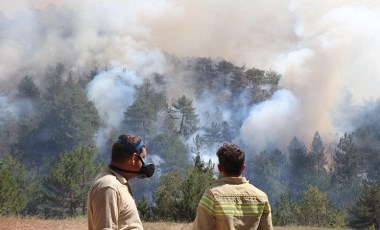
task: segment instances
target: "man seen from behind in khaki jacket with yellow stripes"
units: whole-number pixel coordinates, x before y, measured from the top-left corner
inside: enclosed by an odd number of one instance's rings
[[[272,230],[267,195],[242,176],[244,152],[235,144],[223,144],[216,154],[221,178],[204,192],[193,229]]]

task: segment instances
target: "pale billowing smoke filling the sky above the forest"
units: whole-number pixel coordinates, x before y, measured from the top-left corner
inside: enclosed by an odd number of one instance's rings
[[[26,74],[41,85],[39,76],[57,62],[71,70],[107,67],[87,89],[103,119],[117,126],[123,111],[105,100],[125,93],[128,106],[133,88],[101,97],[106,84],[170,72],[164,53],[225,59],[282,75],[272,98],[237,111],[245,144],[284,146],[293,136],[310,142],[316,131],[352,129],[350,108],[379,98],[379,24],[380,3],[371,0],[3,0],[1,89]],[[182,73],[168,82],[168,98],[194,95]],[[199,110],[213,104],[204,98],[195,102]],[[226,119],[230,113],[223,111]]]

